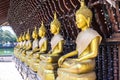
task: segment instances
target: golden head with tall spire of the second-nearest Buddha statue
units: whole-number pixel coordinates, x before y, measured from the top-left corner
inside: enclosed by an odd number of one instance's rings
[[[60,32],[60,21],[57,19],[56,13],[54,14],[54,20],[50,24],[50,31],[52,34],[58,34]]]

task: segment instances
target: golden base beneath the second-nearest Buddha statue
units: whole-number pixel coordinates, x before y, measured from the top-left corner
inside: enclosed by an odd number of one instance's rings
[[[57,75],[57,66],[57,63],[49,64],[41,61],[37,74],[42,80],[55,80]]]

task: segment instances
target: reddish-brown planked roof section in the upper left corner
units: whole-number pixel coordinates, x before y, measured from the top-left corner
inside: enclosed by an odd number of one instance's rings
[[[0,0],[0,25],[7,21],[10,0]]]

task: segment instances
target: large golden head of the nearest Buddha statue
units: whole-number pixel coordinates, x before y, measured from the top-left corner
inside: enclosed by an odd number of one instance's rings
[[[76,24],[80,29],[90,27],[92,21],[92,11],[86,6],[85,1],[81,0],[81,7],[76,11]]]

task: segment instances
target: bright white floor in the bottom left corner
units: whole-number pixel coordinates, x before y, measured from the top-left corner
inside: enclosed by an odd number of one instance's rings
[[[23,80],[14,62],[0,62],[0,80]]]

